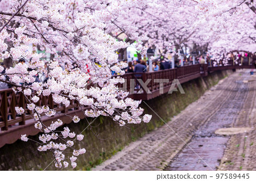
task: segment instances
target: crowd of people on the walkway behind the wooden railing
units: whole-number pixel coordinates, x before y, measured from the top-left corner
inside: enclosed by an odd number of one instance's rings
[[[238,54],[237,56],[234,55],[233,53],[230,53],[229,60],[226,62],[226,65],[233,65],[233,64],[237,65],[242,62],[247,62],[249,61],[248,57],[249,57],[249,54],[247,53]],[[187,66],[187,65],[193,65],[193,64],[208,64],[208,66],[224,66],[225,65],[223,61],[219,61],[216,63],[216,61],[210,60],[210,56],[208,54],[205,57],[203,56],[196,57],[195,62],[193,62],[192,56],[189,56],[189,57],[185,56],[183,59],[183,62],[177,56],[174,56],[173,58],[174,58],[174,61],[169,60],[167,58],[152,60],[152,71],[179,68],[180,66]],[[18,62],[21,64],[26,63],[24,58],[20,58]],[[144,73],[144,72],[150,71],[149,61],[146,59],[132,60],[129,62],[127,62],[127,60],[124,60],[124,62],[126,62],[128,65],[127,68],[123,69],[125,70],[125,73]],[[174,65],[172,65],[173,62],[174,62]],[[251,62],[256,62],[256,53],[253,54]],[[3,68],[6,69],[6,66],[3,63],[1,65],[3,66]],[[47,68],[47,64],[45,66]],[[65,65],[65,66],[68,66],[68,65]],[[75,68],[76,66],[73,65],[73,67]],[[5,74],[5,69],[1,72],[1,74]],[[32,71],[32,69],[28,69],[28,71]],[[116,75],[116,73],[112,71],[112,75]],[[141,76],[141,74],[137,74],[137,77],[139,76]],[[48,80],[47,75],[37,74],[37,75],[34,75],[34,77],[35,77],[35,82],[47,82]],[[0,90],[9,89],[11,87],[12,87],[11,85],[5,82],[0,82]]]

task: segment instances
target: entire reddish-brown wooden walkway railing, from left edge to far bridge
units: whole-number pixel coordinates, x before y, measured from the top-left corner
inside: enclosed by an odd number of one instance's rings
[[[207,76],[208,73],[218,70],[226,70],[226,69],[253,69],[254,65],[234,65],[234,66],[216,66],[216,67],[208,67],[207,64],[197,64],[197,65],[189,65],[183,66],[175,69],[168,70],[159,70],[154,72],[147,73],[127,73],[122,75],[125,79],[125,83],[123,85],[118,85],[118,87],[122,88],[125,91],[129,91],[129,97],[135,100],[148,100],[159,96],[160,94],[168,92],[170,89],[172,82],[174,79],[178,79],[180,83],[184,83],[190,81],[192,79]],[[115,75],[118,76],[118,75]],[[162,93],[160,90],[160,83],[156,81],[156,79],[166,79],[163,83]],[[168,81],[167,81],[168,79]],[[142,83],[146,85],[147,89],[144,89]],[[93,86],[93,85],[90,85]],[[149,91],[148,91],[149,90]],[[79,115],[78,111],[81,109],[86,109],[85,107],[80,107],[77,101],[71,101],[69,107],[65,108],[60,104],[56,104],[53,102],[52,96],[43,96],[40,95],[40,100],[36,103],[37,106],[47,105],[49,108],[59,111],[65,114],[74,114]],[[15,107],[23,107],[25,113],[23,115],[17,115],[15,111]],[[80,111],[81,112],[81,111]],[[65,115],[61,119],[65,120]],[[67,117],[67,116],[66,116]],[[57,119],[57,116],[47,117],[46,120],[49,123],[51,121]],[[19,92],[14,92],[12,89],[0,90],[0,148],[6,143],[12,143],[16,141],[20,137],[20,133],[27,134],[36,134],[38,131],[35,131],[34,126],[26,126],[28,122],[29,124],[34,124],[31,122],[33,119],[32,112],[27,109],[27,101],[22,94]],[[30,121],[28,121],[30,120]],[[72,120],[65,120],[65,123],[70,123]],[[11,125],[16,124],[16,128],[13,130],[9,130]],[[18,124],[18,125],[17,125]],[[25,125],[26,124],[26,125]],[[25,129],[25,127],[26,129]],[[29,128],[29,129],[28,129]],[[19,129],[24,129],[23,131],[19,131]],[[9,130],[9,131],[8,131]],[[11,132],[16,132],[15,137]],[[7,135],[8,134],[8,135]],[[6,140],[2,140],[6,135]]]

